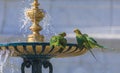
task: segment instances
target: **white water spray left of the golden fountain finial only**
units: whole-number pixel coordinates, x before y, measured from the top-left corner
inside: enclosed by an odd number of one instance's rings
[[[29,18],[26,16],[25,12],[31,7],[32,0],[22,0],[21,4],[21,17],[20,17],[20,32],[22,33],[22,36],[26,38],[27,33],[29,33],[28,29],[31,24]],[[23,13],[24,12],[24,13]]]

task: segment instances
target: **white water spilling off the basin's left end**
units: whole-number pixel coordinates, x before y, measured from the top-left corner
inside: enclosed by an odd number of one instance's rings
[[[0,73],[3,73],[3,66],[9,57],[9,50],[0,50]]]

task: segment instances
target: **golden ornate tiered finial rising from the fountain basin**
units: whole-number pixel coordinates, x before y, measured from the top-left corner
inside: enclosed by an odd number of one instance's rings
[[[30,30],[33,32],[28,36],[28,42],[43,42],[44,36],[39,34],[39,31],[42,30],[42,27],[39,25],[39,22],[44,18],[45,14],[42,9],[39,9],[38,0],[34,0],[32,3],[32,8],[28,9],[25,14],[32,21],[33,25],[30,27]]]

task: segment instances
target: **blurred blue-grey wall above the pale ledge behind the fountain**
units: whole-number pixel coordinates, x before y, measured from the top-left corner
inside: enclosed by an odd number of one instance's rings
[[[24,9],[33,0],[0,0],[0,34],[21,35]],[[57,32],[120,33],[119,0],[39,0]],[[42,25],[42,24],[41,24]],[[13,33],[14,32],[14,33]]]

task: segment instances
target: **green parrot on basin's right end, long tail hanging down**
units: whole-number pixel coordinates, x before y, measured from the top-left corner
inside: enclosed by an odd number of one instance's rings
[[[99,45],[92,37],[89,37],[87,34],[82,34],[79,29],[75,29],[74,32],[76,34],[76,40],[80,50],[82,50],[83,48],[88,49],[93,55],[93,57],[96,59],[91,49],[104,47]]]

